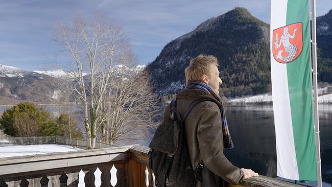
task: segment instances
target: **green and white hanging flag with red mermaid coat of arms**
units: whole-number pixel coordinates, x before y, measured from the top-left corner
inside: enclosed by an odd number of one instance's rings
[[[308,0],[271,1],[277,176],[317,180]]]

